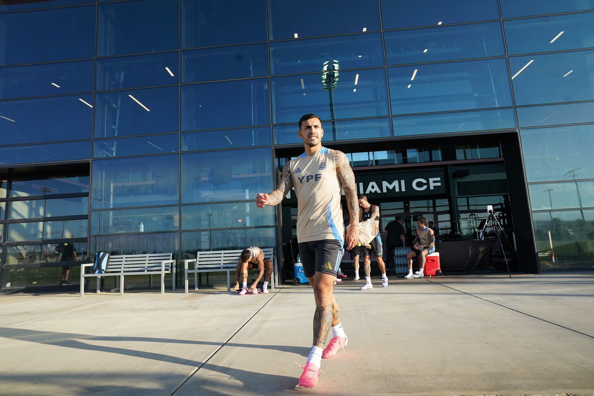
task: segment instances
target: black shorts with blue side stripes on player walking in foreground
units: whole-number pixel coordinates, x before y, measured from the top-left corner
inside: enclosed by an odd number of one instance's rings
[[[299,243],[299,256],[305,277],[318,273],[336,276],[342,255],[342,243],[334,239],[312,240]]]

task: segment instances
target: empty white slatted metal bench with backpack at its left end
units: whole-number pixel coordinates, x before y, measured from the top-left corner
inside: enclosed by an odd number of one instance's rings
[[[80,266],[80,296],[84,296],[84,278],[97,278],[97,293],[99,293],[101,277],[119,276],[119,294],[124,294],[124,277],[126,275],[161,275],[161,294],[165,293],[165,274],[173,274],[173,290],[175,290],[175,260],[172,253],[133,254],[123,256],[109,256],[108,267],[103,274],[85,274],[84,268],[91,264]]]

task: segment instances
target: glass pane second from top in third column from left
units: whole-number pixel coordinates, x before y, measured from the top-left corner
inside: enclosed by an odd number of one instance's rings
[[[268,75],[266,43],[206,48],[182,53],[184,83]]]

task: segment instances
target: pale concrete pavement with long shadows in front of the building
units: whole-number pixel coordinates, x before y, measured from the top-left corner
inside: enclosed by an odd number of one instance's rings
[[[594,394],[593,273],[361,285],[336,287],[349,356],[312,390],[307,286],[0,296],[0,394]]]

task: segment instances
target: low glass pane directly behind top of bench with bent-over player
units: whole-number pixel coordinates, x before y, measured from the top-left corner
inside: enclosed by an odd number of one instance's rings
[[[196,252],[245,249],[247,246],[276,248],[273,227],[182,232],[185,258],[196,258]]]

